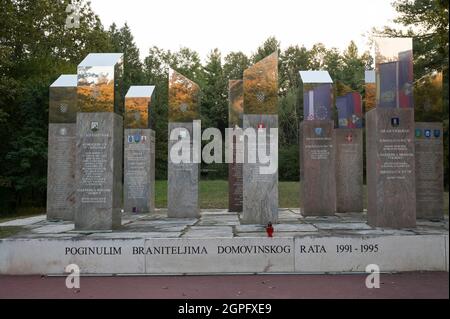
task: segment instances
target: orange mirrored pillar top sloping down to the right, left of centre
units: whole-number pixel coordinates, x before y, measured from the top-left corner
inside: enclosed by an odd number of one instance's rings
[[[200,118],[200,87],[177,71],[169,70],[169,122]]]

